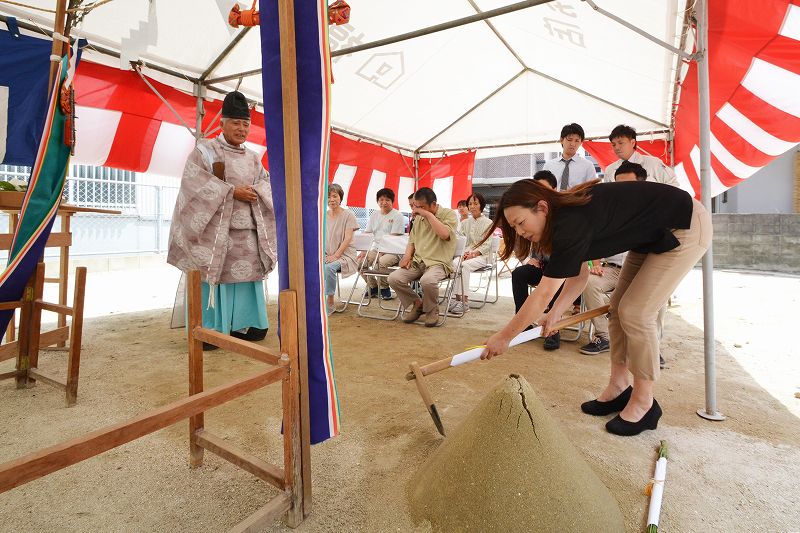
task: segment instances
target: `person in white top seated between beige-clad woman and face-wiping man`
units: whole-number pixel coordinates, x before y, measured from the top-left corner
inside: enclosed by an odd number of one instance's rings
[[[392,207],[392,204],[394,204],[394,191],[391,189],[381,189],[376,196],[379,209],[370,215],[364,233],[373,234],[375,239],[380,239],[384,235],[402,235],[405,233],[405,218],[400,211]],[[359,252],[359,264],[361,260],[364,259],[364,255],[364,252]],[[393,267],[400,261],[400,257],[396,254],[378,254],[377,250],[370,250],[366,256],[368,268],[372,268],[372,265],[375,264],[376,257],[378,258],[376,266],[380,269]],[[377,298],[378,288],[380,287],[381,298],[384,300],[392,299],[392,291],[389,289],[386,278],[364,276],[364,281],[367,282],[367,292],[364,294],[365,297]]]

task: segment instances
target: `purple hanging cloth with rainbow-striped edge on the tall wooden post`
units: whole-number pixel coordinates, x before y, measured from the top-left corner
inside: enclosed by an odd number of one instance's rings
[[[302,201],[286,205],[281,43],[278,2],[261,2],[261,61],[264,117],[270,181],[278,231],[280,288],[289,287],[287,209],[303,215],[303,258],[306,286],[306,335],[311,443],[339,433],[339,399],[333,374],[328,322],[322,298],[327,205],[328,151],[330,148],[330,51],[328,5],[324,0],[295,1],[297,96],[300,126]]]

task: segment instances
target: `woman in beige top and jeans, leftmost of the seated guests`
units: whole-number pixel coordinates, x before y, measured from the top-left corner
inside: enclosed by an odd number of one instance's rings
[[[346,278],[358,270],[353,232],[358,229],[355,215],[342,207],[344,190],[341,185],[328,186],[328,212],[325,220],[325,295],[328,314],[333,313],[336,292],[336,273]]]

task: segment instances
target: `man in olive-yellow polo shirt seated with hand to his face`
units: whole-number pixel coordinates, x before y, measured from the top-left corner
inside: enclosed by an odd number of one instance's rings
[[[439,282],[453,271],[458,221],[455,211],[436,203],[436,193],[428,187],[414,193],[412,214],[406,253],[400,268],[389,275],[389,286],[406,309],[403,322],[410,324],[424,314],[425,325],[432,328],[439,322]],[[422,286],[422,298],[411,290],[414,280]]]

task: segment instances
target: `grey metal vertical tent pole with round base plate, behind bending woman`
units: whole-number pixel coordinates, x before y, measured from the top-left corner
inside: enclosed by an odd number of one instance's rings
[[[697,0],[697,86],[700,118],[700,188],[703,206],[711,212],[711,103],[708,79],[708,0]],[[713,244],[703,256],[703,332],[706,366],[706,406],[697,414],[707,420],[725,420],[717,411],[717,369],[714,345],[714,254]]]

